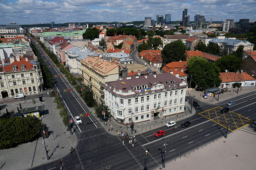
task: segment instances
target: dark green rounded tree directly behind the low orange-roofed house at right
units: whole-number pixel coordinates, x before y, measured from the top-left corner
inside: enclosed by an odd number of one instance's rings
[[[222,56],[215,61],[215,65],[220,68],[221,72],[225,72],[225,70],[236,72],[236,70],[240,70],[241,63],[242,58],[236,57],[233,54]]]

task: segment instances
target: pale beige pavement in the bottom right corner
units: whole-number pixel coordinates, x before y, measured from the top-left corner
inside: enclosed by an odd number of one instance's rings
[[[255,126],[253,122],[228,134],[227,139],[222,137],[203,149],[168,162],[165,169],[255,169]],[[162,166],[156,170],[159,169],[163,169]]]

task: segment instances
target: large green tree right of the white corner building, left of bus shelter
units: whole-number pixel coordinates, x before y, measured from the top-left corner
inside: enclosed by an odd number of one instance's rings
[[[192,57],[193,58],[193,57]],[[192,59],[190,58],[190,59]],[[189,60],[190,60],[189,59]],[[190,75],[193,75],[191,87],[210,88],[220,85],[220,68],[213,63],[207,62],[205,59],[197,58],[188,70]],[[190,80],[188,80],[190,81]]]

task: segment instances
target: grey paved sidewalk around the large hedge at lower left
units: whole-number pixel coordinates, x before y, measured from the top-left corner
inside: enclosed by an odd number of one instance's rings
[[[48,127],[49,137],[45,139],[45,145],[47,145],[48,156],[50,160],[46,160],[46,152],[44,144],[42,143],[43,139],[39,137],[38,140],[33,142],[24,143],[18,145],[15,148],[0,150],[0,160],[1,160],[1,170],[9,169],[29,169],[34,166],[38,166],[44,163],[49,163],[52,161],[58,162],[63,156],[69,153],[71,146],[75,148],[77,144],[77,137],[75,133],[70,135],[66,127],[64,127],[63,122],[58,114],[58,111],[55,109],[55,103],[53,103],[54,98],[47,95],[49,90],[43,91],[40,93],[40,96],[43,96],[43,102],[39,102],[38,94],[28,95],[26,97],[26,102],[24,99],[14,99],[14,98],[5,98],[0,100],[1,113],[6,113],[8,111],[14,110],[17,112],[17,107],[20,108],[19,103],[22,108],[34,107],[32,103],[32,98],[36,100],[36,106],[44,105],[44,112],[40,112],[44,117],[42,123],[46,124]],[[53,136],[54,134],[54,136]],[[21,159],[22,158],[22,159]]]

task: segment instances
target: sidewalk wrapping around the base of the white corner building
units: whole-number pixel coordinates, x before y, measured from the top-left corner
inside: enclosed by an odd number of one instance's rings
[[[186,110],[184,110],[184,113],[179,114],[178,117],[176,117],[176,115],[173,115],[173,116],[168,116],[167,120],[165,119],[165,117],[163,117],[157,120],[151,120],[151,121],[146,121],[141,123],[135,122],[133,134],[136,135],[136,134],[140,134],[140,133],[151,131],[151,130],[153,130],[152,131],[153,133],[155,128],[164,126],[166,123],[172,120],[177,122],[195,114],[194,108],[192,109],[192,114],[190,114],[190,106],[185,104],[185,107],[186,107]],[[106,131],[108,131],[108,128],[111,129],[111,126],[112,126],[112,131],[110,130],[109,133],[113,135],[118,135],[118,132],[120,132],[120,130],[122,130],[124,133],[131,134],[130,125],[128,125],[128,128],[127,128],[126,125],[117,123],[113,117],[111,117],[110,122],[107,122],[106,126],[104,126],[104,122],[100,122],[100,124],[104,129],[106,129]],[[136,130],[137,132],[135,133],[134,130]]]

